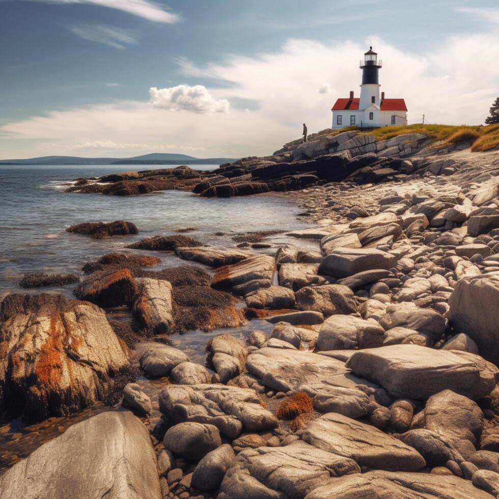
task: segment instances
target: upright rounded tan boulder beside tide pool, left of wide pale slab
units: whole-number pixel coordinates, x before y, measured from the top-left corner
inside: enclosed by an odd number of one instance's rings
[[[210,360],[222,383],[244,371],[246,349],[231,335],[217,335],[209,343]]]

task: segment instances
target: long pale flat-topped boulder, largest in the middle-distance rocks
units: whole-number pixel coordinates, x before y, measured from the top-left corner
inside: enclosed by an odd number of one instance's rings
[[[319,274],[342,278],[365,270],[395,267],[396,257],[374,249],[337,248],[327,255],[319,265]]]

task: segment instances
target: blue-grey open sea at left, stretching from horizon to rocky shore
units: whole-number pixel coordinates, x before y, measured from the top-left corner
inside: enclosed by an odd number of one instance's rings
[[[75,178],[98,177],[124,168],[145,167],[0,166],[0,291],[20,290],[18,282],[26,272],[80,273],[86,261],[104,253],[119,251],[144,237],[175,234],[186,227],[195,227],[188,235],[208,244],[231,246],[234,245],[231,236],[237,233],[307,226],[296,219],[298,205],[277,196],[206,199],[182,191],[136,197],[64,192]],[[195,168],[215,167],[196,165]],[[66,227],[84,221],[117,219],[133,222],[139,234],[94,240],[65,231]],[[220,231],[225,235],[216,236],[215,232]],[[160,256],[163,266],[181,263],[172,254]],[[68,294],[72,287],[49,289]]]

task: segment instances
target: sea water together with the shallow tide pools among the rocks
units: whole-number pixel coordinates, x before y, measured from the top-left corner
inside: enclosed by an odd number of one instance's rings
[[[0,166],[0,295],[4,291],[59,291],[71,297],[75,284],[62,288],[22,290],[18,282],[25,272],[75,272],[82,275],[81,267],[89,260],[111,251],[123,251],[125,245],[137,239],[176,234],[178,229],[186,227],[196,228],[188,233],[189,236],[221,247],[234,246],[231,237],[237,233],[308,227],[308,224],[296,218],[296,214],[301,211],[299,205],[290,198],[276,195],[206,199],[181,191],[137,197],[64,192],[75,178],[99,177],[123,171],[124,168],[144,169],[143,165]],[[213,168],[213,165],[196,166],[196,169],[203,170]],[[65,231],[69,225],[84,221],[117,219],[132,221],[138,227],[139,234],[95,240]],[[223,232],[224,235],[217,236],[216,232]],[[293,241],[285,235],[275,235],[272,236],[272,242]],[[299,244],[301,247],[317,248],[316,243],[306,240],[300,240]],[[273,252],[275,245],[270,250],[259,251]],[[192,263],[180,260],[172,253],[144,253],[159,256],[162,267]],[[241,306],[244,306],[244,302],[241,302]],[[243,339],[253,329],[270,332],[272,327],[269,322],[256,319],[237,329],[218,329],[209,333],[190,331],[185,335],[173,335],[171,343],[175,348],[185,351],[192,362],[204,365],[205,345],[213,336],[228,333]],[[157,391],[164,380],[141,377],[137,382],[153,402],[151,418],[158,419]],[[98,402],[66,418],[50,418],[43,422],[17,418],[0,423],[0,475],[69,426],[104,410],[119,408],[107,407]]]

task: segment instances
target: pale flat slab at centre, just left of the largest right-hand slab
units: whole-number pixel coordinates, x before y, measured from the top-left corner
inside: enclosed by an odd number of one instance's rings
[[[321,381],[347,372],[335,358],[299,350],[261,348],[248,355],[246,369],[260,382],[279,392],[289,392],[305,382]]]

